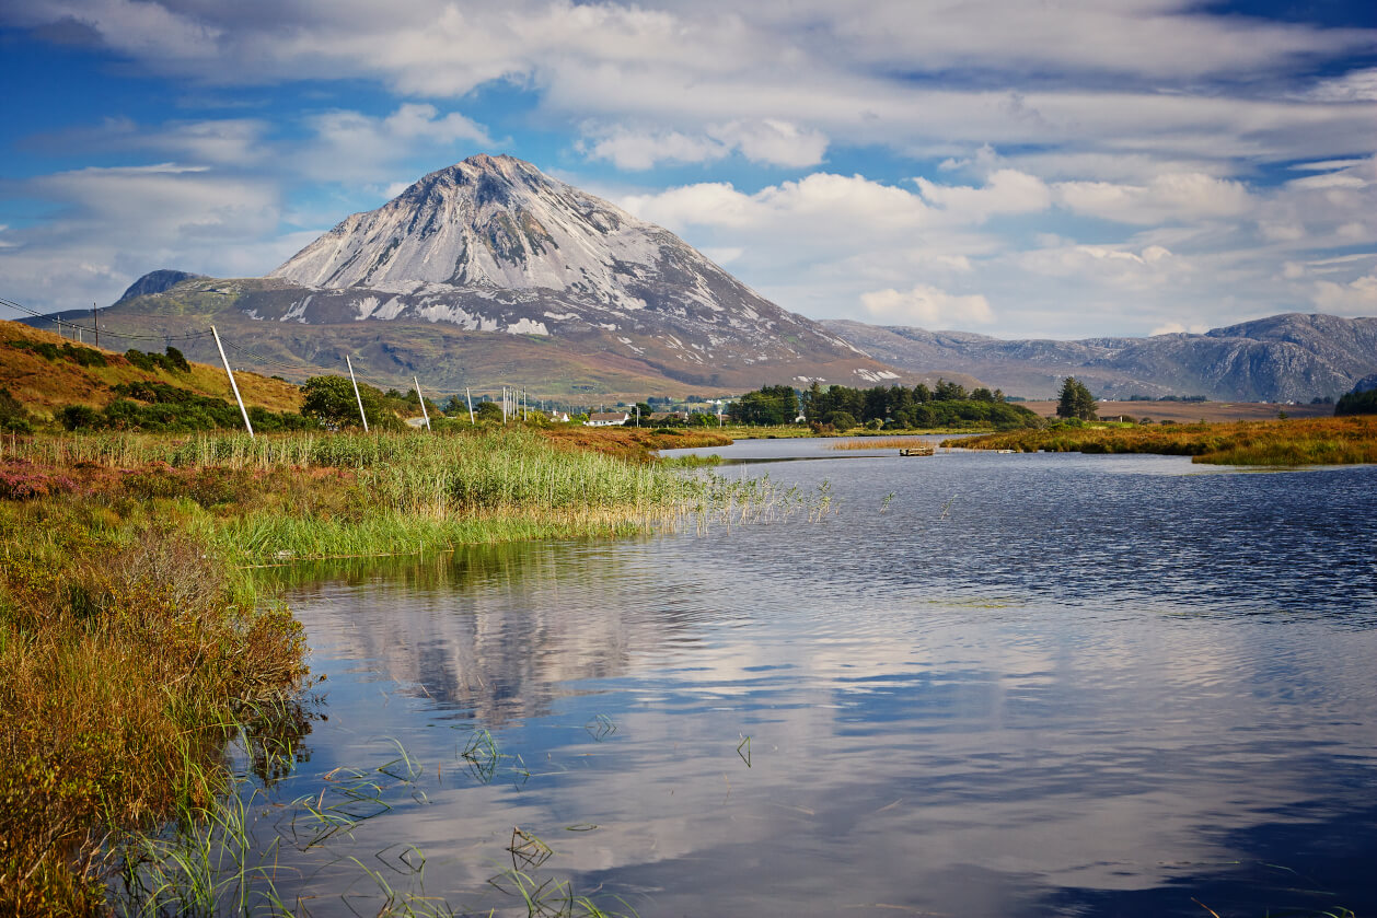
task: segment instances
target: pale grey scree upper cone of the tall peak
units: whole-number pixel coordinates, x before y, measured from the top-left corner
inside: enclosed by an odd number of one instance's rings
[[[355,300],[348,318],[540,336],[613,332],[614,350],[690,376],[723,363],[822,358],[884,378],[850,344],[770,303],[673,233],[509,156],[431,172],[269,277],[387,295]],[[313,321],[310,306],[291,318]]]

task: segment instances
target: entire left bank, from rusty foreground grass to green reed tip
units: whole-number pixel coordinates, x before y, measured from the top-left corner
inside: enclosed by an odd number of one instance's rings
[[[99,914],[112,833],[204,812],[226,745],[285,716],[302,636],[248,566],[804,509],[654,436],[4,438],[0,914]]]

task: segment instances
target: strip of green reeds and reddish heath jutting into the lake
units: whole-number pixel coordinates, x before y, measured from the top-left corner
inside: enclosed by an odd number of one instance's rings
[[[11,438],[0,458],[29,471],[11,476],[12,490],[161,501],[165,517],[241,563],[702,529],[804,505],[768,480],[691,475],[523,429]]]

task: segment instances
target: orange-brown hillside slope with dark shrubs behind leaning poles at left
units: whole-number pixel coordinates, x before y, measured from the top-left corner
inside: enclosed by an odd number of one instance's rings
[[[140,344],[150,351],[162,352],[153,341]],[[215,345],[211,347],[213,350]],[[52,359],[44,351],[54,354]],[[101,356],[92,358],[92,354]],[[295,412],[302,405],[300,389],[291,383],[256,373],[235,372],[234,377],[249,406]],[[0,321],[0,388],[8,389],[41,418],[51,418],[65,405],[103,409],[114,401],[116,385],[136,381],[165,383],[197,395],[234,401],[220,366],[191,363],[187,373],[164,369],[150,372],[131,363],[123,352],[78,344],[19,322]]]

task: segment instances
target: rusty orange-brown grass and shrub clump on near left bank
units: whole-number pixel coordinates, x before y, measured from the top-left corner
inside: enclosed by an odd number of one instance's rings
[[[105,910],[106,841],[212,804],[300,629],[139,501],[0,501],[0,912]]]

